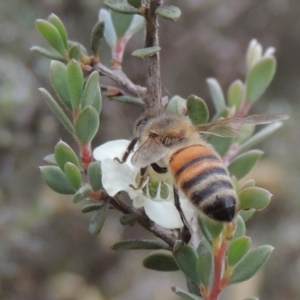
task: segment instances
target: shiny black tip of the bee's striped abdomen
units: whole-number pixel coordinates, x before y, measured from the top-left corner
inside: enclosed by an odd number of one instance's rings
[[[217,197],[217,200],[207,207],[205,213],[220,222],[231,222],[236,213],[236,200],[232,196]]]

